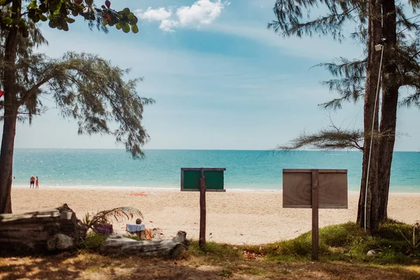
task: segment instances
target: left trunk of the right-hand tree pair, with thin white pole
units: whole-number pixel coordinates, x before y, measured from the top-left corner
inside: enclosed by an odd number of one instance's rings
[[[378,112],[379,104],[374,110],[375,98],[377,93],[377,79],[379,76],[379,62],[381,53],[375,51],[374,45],[380,43],[381,40],[381,3],[379,0],[370,0],[369,3],[369,41],[367,45],[368,59],[366,69],[366,90],[365,90],[365,106],[364,106],[364,131],[365,139],[363,144],[363,167],[362,180],[360,186],[360,196],[358,202],[357,221],[360,227],[376,229],[379,226],[379,200],[378,200],[378,141],[372,141],[372,154],[370,155],[370,139],[372,135],[372,122],[374,123],[373,133],[378,131]],[[367,172],[369,172],[369,181],[366,182]],[[365,221],[365,200],[366,200],[366,221]]]

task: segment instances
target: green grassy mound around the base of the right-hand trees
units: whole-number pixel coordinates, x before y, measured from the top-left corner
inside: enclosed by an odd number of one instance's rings
[[[346,262],[370,262],[372,264],[409,264],[420,256],[420,248],[414,250],[402,237],[412,235],[412,226],[396,221],[381,224],[377,232],[367,235],[356,223],[330,225],[319,230],[319,256],[321,260]],[[197,241],[192,241],[189,254],[205,256],[208,260],[244,259],[244,251],[274,262],[310,260],[311,232],[295,239],[278,241],[265,246],[232,246],[207,242],[204,251]],[[374,250],[377,255],[369,256]]]

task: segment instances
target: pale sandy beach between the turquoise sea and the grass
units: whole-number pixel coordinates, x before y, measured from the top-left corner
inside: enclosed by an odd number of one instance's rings
[[[133,193],[144,192],[146,196]],[[207,193],[207,241],[265,244],[297,237],[311,230],[311,209],[283,209],[281,192]],[[13,188],[13,213],[68,204],[76,216],[114,207],[134,207],[144,214],[146,228],[160,228],[161,237],[178,230],[198,239],[200,193],[177,190],[102,190],[76,188]],[[319,226],[356,221],[358,194],[349,194],[349,209],[320,209]],[[388,216],[405,223],[420,220],[420,195],[391,193]],[[134,223],[134,221],[132,221]],[[125,223],[114,224],[123,233]]]

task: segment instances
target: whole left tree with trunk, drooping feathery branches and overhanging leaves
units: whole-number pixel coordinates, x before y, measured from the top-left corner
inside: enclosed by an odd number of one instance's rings
[[[3,138],[0,151],[0,214],[11,213],[10,191],[13,178],[13,150],[18,120],[32,122],[45,111],[39,97],[49,94],[62,116],[78,123],[79,134],[112,134],[125,144],[133,157],[144,155],[141,147],[148,134],[141,125],[146,104],[153,99],[139,97],[140,79],[124,80],[128,70],[87,53],[66,53],[51,59],[32,52],[47,43],[38,22],[63,31],[76,18],[88,27],[107,32],[108,27],[137,33],[137,18],[129,8],[113,10],[111,2],[101,7],[93,0],[0,0],[0,71],[3,100]],[[117,123],[111,129],[110,123]]]

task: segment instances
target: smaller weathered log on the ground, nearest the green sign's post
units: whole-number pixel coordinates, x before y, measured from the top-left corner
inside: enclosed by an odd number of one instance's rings
[[[187,233],[183,231],[179,231],[172,239],[160,241],[136,241],[120,235],[110,235],[99,247],[99,252],[177,258],[184,248],[188,249],[189,241],[186,237]]]

